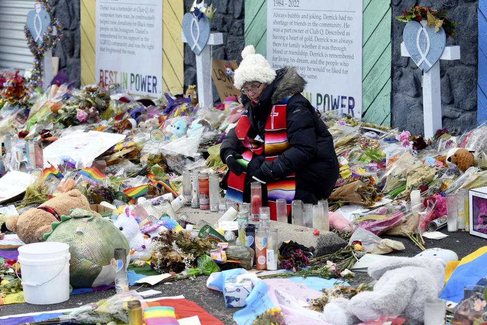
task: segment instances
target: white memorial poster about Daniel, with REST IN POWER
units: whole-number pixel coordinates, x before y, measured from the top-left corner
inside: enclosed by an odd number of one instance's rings
[[[162,1],[96,0],[95,16],[96,83],[161,97]]]

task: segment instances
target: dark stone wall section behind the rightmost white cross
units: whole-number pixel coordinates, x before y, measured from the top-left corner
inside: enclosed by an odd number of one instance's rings
[[[448,129],[471,129],[477,124],[478,0],[392,0],[392,16],[416,5],[443,8],[448,17],[460,22],[455,39],[447,37],[446,45],[459,45],[461,59],[440,60],[442,120]],[[401,56],[403,29],[404,23],[393,18],[391,126],[423,135],[423,76],[411,58]]]

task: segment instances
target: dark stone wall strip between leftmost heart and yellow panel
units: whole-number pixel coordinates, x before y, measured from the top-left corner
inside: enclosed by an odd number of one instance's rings
[[[63,26],[63,37],[53,49],[52,55],[59,57],[59,71],[67,73],[67,80],[75,80],[75,87],[79,87],[81,84],[80,1],[51,0],[50,4],[54,17]]]

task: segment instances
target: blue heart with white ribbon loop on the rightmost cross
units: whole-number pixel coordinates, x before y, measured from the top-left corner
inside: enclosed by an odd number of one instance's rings
[[[424,72],[428,72],[440,59],[446,44],[444,29],[435,32],[434,27],[427,26],[426,20],[421,23],[409,21],[402,32],[402,39],[409,56]]]

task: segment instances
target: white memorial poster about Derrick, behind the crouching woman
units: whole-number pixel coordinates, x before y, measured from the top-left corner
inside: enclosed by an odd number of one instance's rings
[[[294,66],[320,111],[362,115],[362,1],[268,0],[267,60]]]

